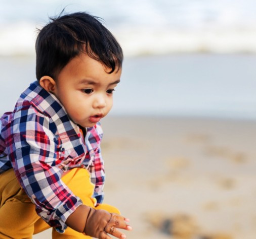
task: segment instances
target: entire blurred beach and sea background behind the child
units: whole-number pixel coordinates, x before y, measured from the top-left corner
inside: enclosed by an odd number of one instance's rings
[[[0,2],[1,113],[36,80],[36,28],[64,8],[103,18],[122,46],[103,152],[129,238],[256,237],[255,1]]]

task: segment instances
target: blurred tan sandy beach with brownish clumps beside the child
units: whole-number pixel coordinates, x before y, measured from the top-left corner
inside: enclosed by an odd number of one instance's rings
[[[127,238],[255,239],[255,123],[104,119],[105,202],[130,218]]]

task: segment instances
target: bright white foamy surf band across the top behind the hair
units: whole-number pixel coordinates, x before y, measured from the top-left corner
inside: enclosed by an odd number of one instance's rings
[[[0,6],[0,55],[33,54],[49,16],[102,17],[125,55],[256,52],[254,0],[9,0]]]

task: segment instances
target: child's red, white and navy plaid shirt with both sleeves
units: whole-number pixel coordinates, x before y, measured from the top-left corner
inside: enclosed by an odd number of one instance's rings
[[[38,82],[0,120],[0,173],[14,168],[37,214],[51,226],[63,232],[68,216],[82,204],[61,181],[68,169],[87,167],[95,184],[94,197],[103,201],[100,124],[88,128],[83,139],[58,99]]]

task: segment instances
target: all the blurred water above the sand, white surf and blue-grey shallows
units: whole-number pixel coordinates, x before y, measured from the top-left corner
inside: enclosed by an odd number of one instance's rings
[[[125,59],[111,114],[256,120],[254,0],[9,0],[0,6],[0,112],[35,80],[36,28],[102,17]]]

